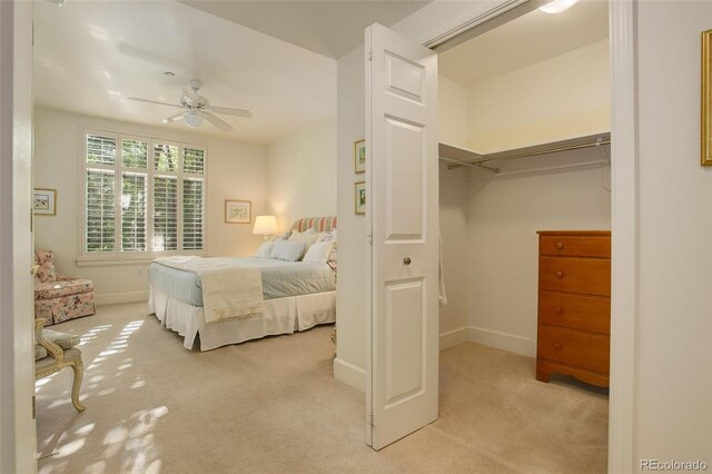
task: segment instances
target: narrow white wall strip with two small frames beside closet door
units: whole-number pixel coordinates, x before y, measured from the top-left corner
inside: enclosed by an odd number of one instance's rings
[[[337,63],[337,215],[338,339],[334,377],[360,391],[366,386],[366,329],[370,317],[366,302],[366,218],[354,214],[354,141],[365,134],[364,48]]]

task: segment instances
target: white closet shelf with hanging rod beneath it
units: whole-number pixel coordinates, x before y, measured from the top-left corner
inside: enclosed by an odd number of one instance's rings
[[[486,165],[494,161],[536,157],[610,144],[611,134],[604,132],[587,135],[585,137],[568,138],[566,140],[552,141],[548,144],[534,145],[531,147],[516,148],[513,150],[497,151],[494,154],[479,154],[466,148],[439,144],[438,154],[442,160],[453,164],[451,165],[453,168],[457,166],[466,166],[469,168],[485,168],[493,172],[501,172],[502,170],[500,168],[493,168]]]

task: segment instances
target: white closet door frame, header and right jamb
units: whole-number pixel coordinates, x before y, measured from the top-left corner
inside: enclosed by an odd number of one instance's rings
[[[488,30],[546,1],[492,0],[454,12],[447,21],[411,34],[438,51],[474,29]],[[639,307],[639,142],[635,19],[636,0],[609,0],[611,52],[611,387],[609,472],[635,470],[634,399]],[[424,7],[424,10],[428,6]],[[436,20],[437,21],[437,20]],[[487,23],[487,26],[485,26]],[[494,27],[493,27],[494,28]],[[393,27],[399,31],[398,24]],[[422,32],[424,31],[424,32]],[[448,43],[448,45],[446,45]]]

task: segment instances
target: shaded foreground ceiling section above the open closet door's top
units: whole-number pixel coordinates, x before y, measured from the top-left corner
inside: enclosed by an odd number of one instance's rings
[[[364,43],[374,22],[397,23],[432,0],[179,0],[329,58]]]

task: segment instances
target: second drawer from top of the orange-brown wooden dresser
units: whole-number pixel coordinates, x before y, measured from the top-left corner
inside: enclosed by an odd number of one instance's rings
[[[611,296],[611,260],[540,257],[540,289]]]

